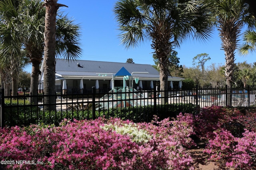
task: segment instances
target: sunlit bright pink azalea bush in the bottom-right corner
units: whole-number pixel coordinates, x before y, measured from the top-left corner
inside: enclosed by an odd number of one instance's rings
[[[242,138],[234,137],[225,129],[214,131],[215,139],[209,140],[204,152],[210,154],[210,160],[226,162],[230,168],[248,169],[255,166],[256,133],[245,129]],[[254,164],[254,165],[253,165]]]

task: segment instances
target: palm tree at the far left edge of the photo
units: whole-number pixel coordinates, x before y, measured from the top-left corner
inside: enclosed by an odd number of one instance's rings
[[[0,1],[0,57],[9,66],[12,77],[12,94],[18,92],[18,73],[22,53],[22,7],[17,0]]]

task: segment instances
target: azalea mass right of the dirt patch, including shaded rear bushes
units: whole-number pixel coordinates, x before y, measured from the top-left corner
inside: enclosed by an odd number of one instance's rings
[[[213,106],[203,108],[195,121],[196,133],[208,143],[204,152],[210,160],[229,168],[256,168],[255,113]]]

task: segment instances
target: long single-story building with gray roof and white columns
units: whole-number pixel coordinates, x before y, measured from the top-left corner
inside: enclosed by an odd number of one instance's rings
[[[38,89],[43,91],[44,70],[39,76]],[[140,90],[150,90],[159,86],[159,72],[150,64],[116,63],[103,61],[68,61],[56,59],[56,92],[81,93],[92,90],[95,86],[98,92],[108,92],[112,88],[123,86]],[[128,76],[128,80],[124,80]],[[127,79],[127,78],[126,78]],[[168,77],[168,86],[173,88],[173,81],[179,82],[180,77]],[[175,87],[174,87],[175,88]],[[177,87],[178,88],[178,87]]]

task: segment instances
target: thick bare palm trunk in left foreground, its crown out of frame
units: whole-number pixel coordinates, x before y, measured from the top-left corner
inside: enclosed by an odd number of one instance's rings
[[[55,46],[56,46],[56,14],[58,6],[53,0],[45,1],[45,30],[44,30],[44,94],[55,94]],[[45,104],[55,104],[55,97],[45,97]],[[46,110],[55,110],[55,105],[45,106]]]

